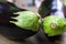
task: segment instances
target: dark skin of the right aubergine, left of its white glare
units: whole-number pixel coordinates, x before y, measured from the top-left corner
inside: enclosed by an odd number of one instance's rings
[[[48,16],[51,14],[52,2],[53,0],[43,0],[43,2],[41,3],[38,8],[38,14],[42,18]]]

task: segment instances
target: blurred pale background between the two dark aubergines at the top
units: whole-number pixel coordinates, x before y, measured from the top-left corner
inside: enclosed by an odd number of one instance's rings
[[[8,1],[13,2],[19,8],[37,12],[37,9],[43,0],[8,0]]]

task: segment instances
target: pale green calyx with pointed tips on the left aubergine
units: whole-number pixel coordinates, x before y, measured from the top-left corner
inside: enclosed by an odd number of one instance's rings
[[[19,14],[15,18],[12,18],[15,21],[10,21],[11,23],[14,23],[19,28],[25,29],[25,30],[31,30],[31,31],[38,31],[40,29],[40,16],[37,13],[33,13],[31,11],[21,11],[16,12],[14,14]]]

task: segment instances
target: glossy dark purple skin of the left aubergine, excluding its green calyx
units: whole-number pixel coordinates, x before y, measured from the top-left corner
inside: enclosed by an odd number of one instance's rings
[[[25,9],[19,9],[16,7],[15,9],[11,9],[11,7],[15,6],[9,2],[0,2],[0,34],[13,41],[21,41],[36,34],[36,32],[20,29],[19,26],[9,22],[12,20],[11,16],[13,16],[13,12],[26,11]]]

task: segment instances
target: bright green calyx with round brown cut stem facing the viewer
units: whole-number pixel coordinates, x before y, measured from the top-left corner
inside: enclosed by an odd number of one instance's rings
[[[66,31],[66,19],[58,15],[50,15],[43,19],[43,31],[48,36],[55,36]]]

